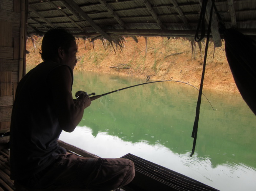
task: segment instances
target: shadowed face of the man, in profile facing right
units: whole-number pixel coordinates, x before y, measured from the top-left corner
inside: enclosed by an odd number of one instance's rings
[[[77,60],[76,60],[76,53],[77,53],[77,46],[76,41],[72,41],[71,45],[68,49],[68,52],[64,52],[63,55],[63,64],[68,65],[72,71],[74,70],[74,67],[76,66]]]

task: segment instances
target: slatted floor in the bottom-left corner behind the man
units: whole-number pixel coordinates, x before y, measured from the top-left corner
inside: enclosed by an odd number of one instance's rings
[[[9,149],[0,150],[0,191],[13,191],[15,187],[10,180]]]

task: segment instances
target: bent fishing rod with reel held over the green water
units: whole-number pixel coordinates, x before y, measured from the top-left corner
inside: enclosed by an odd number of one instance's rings
[[[172,79],[172,78],[171,78]],[[108,94],[112,94],[112,93],[114,93],[114,92],[118,92],[118,91],[121,91],[121,90],[124,90],[124,89],[128,89],[128,88],[131,88],[131,87],[135,87],[135,86],[141,86],[141,85],[145,85],[145,84],[151,84],[151,83],[157,83],[157,82],[178,82],[178,83],[183,83],[183,84],[187,84],[187,85],[189,85],[189,86],[192,86],[191,84],[188,84],[188,83],[185,83],[185,82],[182,82],[182,81],[176,81],[176,80],[162,80],[162,81],[153,81],[153,82],[148,82],[149,81],[149,76],[147,76],[147,80],[146,80],[146,82],[145,83],[142,83],[142,84],[136,84],[136,85],[133,85],[133,86],[128,86],[128,87],[124,87],[124,88],[121,88],[121,89],[117,89],[117,90],[114,90],[114,91],[111,91],[111,92],[107,92],[107,93],[105,93],[105,94],[101,94],[101,95],[96,95],[94,92],[93,93],[91,93],[91,94],[87,94],[87,92],[84,92],[84,91],[78,91],[78,92],[76,92],[76,99],[79,99],[79,96],[81,96],[81,95],[88,95],[89,97],[91,96],[91,95],[94,95],[94,96],[92,96],[92,97],[90,97],[91,98],[91,100],[96,100],[96,99],[98,99],[98,98],[100,98],[100,97],[102,97],[102,96],[104,96],[104,95],[108,95]],[[192,86],[192,87],[194,87],[195,89],[197,89],[198,91],[199,91],[199,89],[197,88],[197,87],[195,87],[195,86]],[[202,95],[206,98],[206,100],[209,102],[209,104],[211,105],[211,102],[207,99],[207,97],[202,93]],[[213,108],[213,106],[211,105],[211,107]],[[214,108],[213,108],[213,110],[214,110]]]

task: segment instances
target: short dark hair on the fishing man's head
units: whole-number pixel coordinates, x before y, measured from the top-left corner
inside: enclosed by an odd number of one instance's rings
[[[73,40],[75,40],[74,36],[64,29],[52,29],[46,32],[40,52],[42,60],[53,60],[57,57],[59,47],[67,53]]]

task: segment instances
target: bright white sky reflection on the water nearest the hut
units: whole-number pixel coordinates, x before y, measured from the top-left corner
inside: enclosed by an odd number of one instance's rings
[[[199,157],[195,152],[190,157],[191,151],[178,154],[161,144],[150,145],[147,140],[132,143],[106,132],[94,137],[86,126],[79,126],[73,133],[63,132],[60,139],[105,158],[132,153],[223,191],[253,191],[256,186],[255,169],[243,163],[213,166],[208,155]]]

